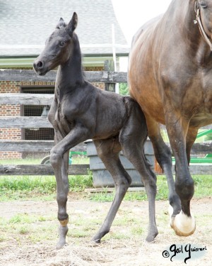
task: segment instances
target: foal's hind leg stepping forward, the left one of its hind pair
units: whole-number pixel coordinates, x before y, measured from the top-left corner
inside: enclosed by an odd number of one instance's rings
[[[102,223],[98,233],[93,237],[95,243],[100,243],[101,238],[110,231],[112,221],[114,220],[119,206],[122,203],[122,199],[124,199],[124,195],[131,184],[131,177],[129,177],[129,174],[124,170],[124,167],[119,160],[119,151],[121,149],[117,140],[95,140],[94,143],[98,156],[101,158],[105,167],[114,179],[116,189],[112,206],[110,207],[105,221]]]

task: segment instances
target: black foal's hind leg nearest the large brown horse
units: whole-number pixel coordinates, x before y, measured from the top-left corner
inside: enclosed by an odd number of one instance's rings
[[[134,110],[135,111],[135,110]],[[140,110],[131,115],[119,136],[120,144],[124,155],[136,167],[141,174],[141,180],[148,196],[149,225],[146,241],[152,242],[158,235],[158,228],[155,223],[155,196],[157,193],[156,176],[148,165],[143,153],[143,146],[146,142],[147,128],[145,118]]]

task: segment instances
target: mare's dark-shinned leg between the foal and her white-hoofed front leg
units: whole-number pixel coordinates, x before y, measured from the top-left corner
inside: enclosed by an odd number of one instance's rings
[[[148,136],[153,143],[155,157],[167,178],[167,184],[169,188],[169,201],[170,206],[172,206],[173,209],[172,217],[174,217],[181,211],[181,202],[179,196],[175,192],[175,182],[172,175],[172,155],[170,148],[168,148],[163,141],[158,123],[147,115],[146,123],[148,127]]]

